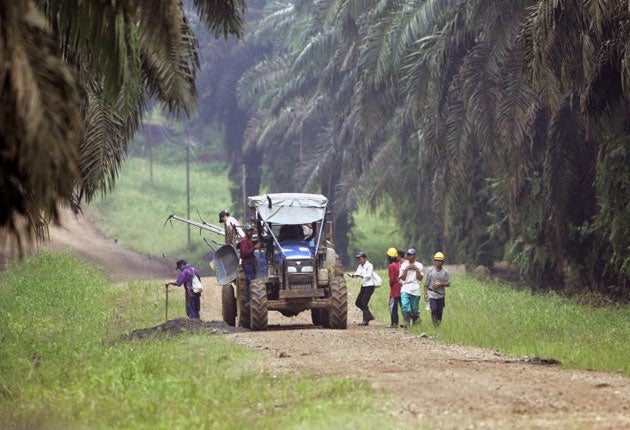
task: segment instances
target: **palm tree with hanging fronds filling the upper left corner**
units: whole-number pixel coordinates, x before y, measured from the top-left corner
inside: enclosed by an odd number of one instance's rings
[[[194,5],[240,35],[241,0]],[[2,2],[0,28],[0,228],[21,242],[113,186],[149,97],[194,107],[198,59],[178,0]]]

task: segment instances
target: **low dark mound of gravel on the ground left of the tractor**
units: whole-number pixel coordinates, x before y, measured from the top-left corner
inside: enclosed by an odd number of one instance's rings
[[[249,331],[244,328],[231,327],[223,321],[200,321],[188,318],[177,318],[150,328],[133,330],[123,336],[123,340],[142,340],[150,337],[171,337],[186,333],[228,334]]]

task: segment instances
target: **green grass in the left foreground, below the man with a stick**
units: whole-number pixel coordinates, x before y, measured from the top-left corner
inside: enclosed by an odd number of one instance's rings
[[[0,428],[384,428],[368,383],[274,376],[212,334],[123,340],[163,290],[107,284],[68,255],[0,274]],[[161,308],[160,308],[161,309]]]

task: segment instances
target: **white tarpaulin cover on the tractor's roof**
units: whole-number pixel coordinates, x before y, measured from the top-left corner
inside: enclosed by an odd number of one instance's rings
[[[328,199],[321,194],[278,193],[249,197],[247,204],[266,222],[308,224],[324,218]]]

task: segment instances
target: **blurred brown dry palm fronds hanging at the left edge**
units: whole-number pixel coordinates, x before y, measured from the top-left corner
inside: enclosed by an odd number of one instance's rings
[[[31,2],[0,4],[0,228],[30,239],[58,222],[78,179],[75,76]]]

